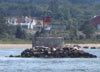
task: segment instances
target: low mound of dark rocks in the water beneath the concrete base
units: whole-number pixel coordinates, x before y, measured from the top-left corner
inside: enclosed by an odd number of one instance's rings
[[[34,48],[24,50],[20,55],[9,57],[25,57],[25,58],[96,58],[96,55],[87,53],[77,47],[50,48],[44,46],[36,46]]]

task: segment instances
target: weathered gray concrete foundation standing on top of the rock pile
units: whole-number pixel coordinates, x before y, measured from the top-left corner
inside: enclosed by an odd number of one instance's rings
[[[32,47],[46,46],[46,47],[64,47],[64,38],[62,37],[35,37],[32,40]]]

